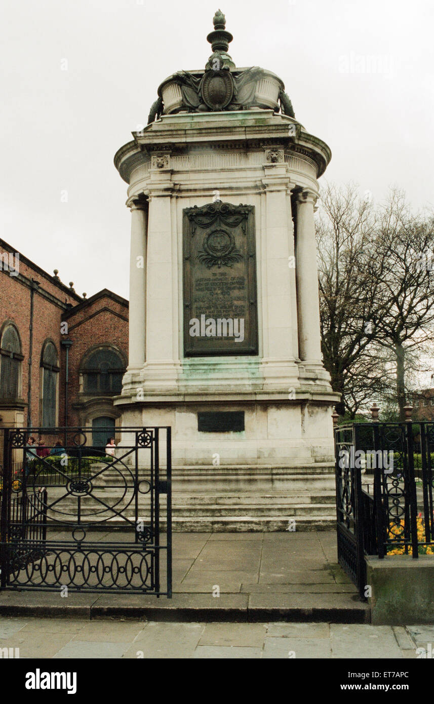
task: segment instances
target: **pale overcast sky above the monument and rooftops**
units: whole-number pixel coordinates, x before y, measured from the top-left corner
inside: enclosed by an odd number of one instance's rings
[[[218,2],[236,65],[277,73],[331,147],[322,180],[434,206],[432,0],[2,0],[1,237],[79,294],[128,297],[113,156],[165,77],[204,68]]]

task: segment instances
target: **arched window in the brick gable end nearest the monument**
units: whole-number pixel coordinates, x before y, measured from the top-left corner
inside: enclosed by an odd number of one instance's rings
[[[120,394],[125,364],[112,349],[98,349],[82,368],[83,391],[86,394]]]

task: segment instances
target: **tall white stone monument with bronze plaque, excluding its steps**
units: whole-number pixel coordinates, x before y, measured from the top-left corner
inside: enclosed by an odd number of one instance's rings
[[[331,152],[278,76],[236,68],[224,15],[214,23],[205,70],[163,81],[148,126],[115,156],[132,210],[115,403],[122,425],[171,425],[174,466],[202,467],[203,486],[218,455],[226,477],[243,468],[255,490],[255,470],[264,488],[278,467],[284,488],[286,467],[333,460],[314,231]]]

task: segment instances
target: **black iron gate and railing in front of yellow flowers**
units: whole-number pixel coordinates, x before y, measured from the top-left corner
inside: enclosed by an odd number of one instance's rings
[[[343,425],[335,447],[338,560],[364,596],[365,555],[434,553],[434,423]]]

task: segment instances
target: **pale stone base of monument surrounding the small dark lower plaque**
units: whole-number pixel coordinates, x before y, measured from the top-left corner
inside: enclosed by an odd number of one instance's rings
[[[238,411],[241,432],[201,432],[198,413]],[[122,425],[172,427],[174,467],[309,467],[333,462],[331,404],[308,398],[253,402],[177,401],[124,406]],[[205,488],[205,487],[204,487]]]

